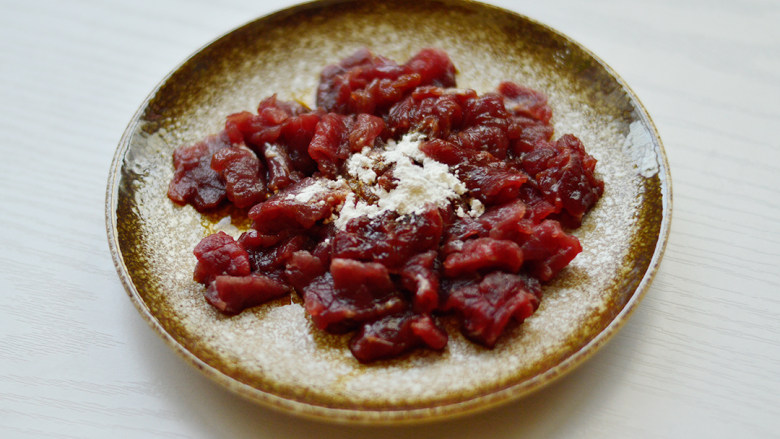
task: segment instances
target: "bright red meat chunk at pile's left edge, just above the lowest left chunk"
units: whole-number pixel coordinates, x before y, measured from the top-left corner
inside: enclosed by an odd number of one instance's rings
[[[193,254],[198,259],[195,265],[195,281],[210,284],[217,276],[247,276],[251,272],[249,255],[232,236],[217,232],[203,238],[195,246]]]

